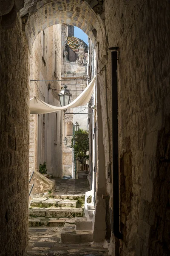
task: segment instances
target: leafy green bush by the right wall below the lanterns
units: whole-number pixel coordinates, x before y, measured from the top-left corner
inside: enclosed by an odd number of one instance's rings
[[[78,158],[88,159],[88,155],[86,155],[89,151],[88,131],[82,129],[75,131],[75,136],[71,139],[71,148],[74,148],[74,154]]]

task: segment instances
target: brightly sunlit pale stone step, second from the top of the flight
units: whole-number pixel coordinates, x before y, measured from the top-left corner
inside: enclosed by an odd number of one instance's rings
[[[81,206],[77,200],[56,199],[56,198],[33,198],[30,202],[30,207],[59,207],[59,208],[76,208]]]

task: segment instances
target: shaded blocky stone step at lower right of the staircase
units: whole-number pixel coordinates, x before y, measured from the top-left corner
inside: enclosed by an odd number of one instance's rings
[[[76,230],[74,224],[65,224],[61,233],[62,243],[86,243],[93,241],[92,231]]]

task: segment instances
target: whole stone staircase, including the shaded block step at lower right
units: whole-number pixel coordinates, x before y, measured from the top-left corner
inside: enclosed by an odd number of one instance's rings
[[[33,198],[29,208],[29,227],[63,227],[61,241],[93,241],[92,221],[84,217],[85,195],[52,195]]]

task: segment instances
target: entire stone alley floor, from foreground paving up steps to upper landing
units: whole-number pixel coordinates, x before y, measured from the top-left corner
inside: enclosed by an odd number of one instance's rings
[[[56,184],[53,195],[31,200],[24,256],[108,255],[103,243],[93,243],[92,221],[84,216],[88,180],[56,179]]]

